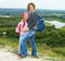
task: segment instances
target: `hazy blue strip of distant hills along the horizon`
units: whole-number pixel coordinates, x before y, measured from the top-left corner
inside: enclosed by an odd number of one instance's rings
[[[0,8],[0,13],[1,12],[23,12],[23,11],[26,11],[25,9],[1,9]],[[62,13],[62,14],[65,14],[65,11],[61,11],[61,10],[39,10],[37,9],[36,10],[38,13]]]

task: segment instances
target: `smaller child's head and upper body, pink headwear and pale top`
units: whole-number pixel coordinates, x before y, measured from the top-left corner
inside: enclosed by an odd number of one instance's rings
[[[22,14],[22,17],[23,17],[23,20],[21,22],[21,33],[20,33],[20,35],[24,35],[28,30],[28,27],[27,27],[28,13],[24,12]]]

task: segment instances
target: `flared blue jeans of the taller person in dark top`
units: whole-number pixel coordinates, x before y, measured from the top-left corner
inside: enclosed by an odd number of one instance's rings
[[[37,48],[36,48],[36,44],[35,44],[35,33],[36,33],[36,30],[30,29],[25,35],[20,36],[18,53],[27,56],[26,40],[30,39],[30,45],[31,45],[31,48],[32,48],[31,54],[37,56]]]

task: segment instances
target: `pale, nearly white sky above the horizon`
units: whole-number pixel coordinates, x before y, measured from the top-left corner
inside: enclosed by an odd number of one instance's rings
[[[0,0],[0,8],[26,9],[29,2],[37,9],[65,10],[65,0]]]

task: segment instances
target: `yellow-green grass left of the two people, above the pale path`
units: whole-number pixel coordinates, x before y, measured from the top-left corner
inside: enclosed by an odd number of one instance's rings
[[[3,36],[3,37],[0,37],[0,45],[11,46],[12,48],[15,48],[18,45],[18,39],[17,38],[8,38],[8,37]]]

